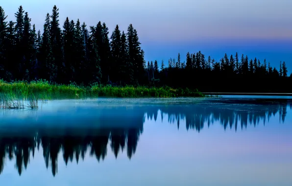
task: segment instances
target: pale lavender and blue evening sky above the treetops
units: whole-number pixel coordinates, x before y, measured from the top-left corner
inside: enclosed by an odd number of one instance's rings
[[[292,0],[13,0],[3,1],[8,20],[22,5],[37,29],[47,13],[59,8],[60,26],[66,17],[88,26],[116,24],[126,31],[132,23],[138,32],[145,60],[201,51],[218,60],[227,53],[267,59],[279,68],[285,61],[292,72]]]

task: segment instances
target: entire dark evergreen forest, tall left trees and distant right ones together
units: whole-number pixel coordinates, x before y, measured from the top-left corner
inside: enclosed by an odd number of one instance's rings
[[[291,93],[292,75],[286,63],[269,62],[238,53],[219,61],[201,51],[146,62],[137,30],[116,26],[109,34],[100,21],[95,26],[67,19],[61,25],[59,9],[44,16],[43,30],[24,8],[8,21],[0,7],[0,79],[6,82],[46,80],[50,84],[92,84],[198,89],[201,92]],[[62,27],[62,28],[61,28]],[[110,36],[109,36],[110,35]],[[184,59],[183,59],[184,58]]]

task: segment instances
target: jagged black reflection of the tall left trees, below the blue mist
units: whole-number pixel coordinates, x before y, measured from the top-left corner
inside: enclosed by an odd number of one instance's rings
[[[131,159],[135,153],[141,129],[100,129],[98,135],[84,136],[53,136],[42,135],[39,132],[41,146],[45,165],[51,166],[52,174],[55,176],[58,170],[58,154],[62,150],[64,162],[73,162],[75,158],[78,163],[79,157],[84,159],[86,152],[89,150],[91,156],[97,158],[97,161],[104,160],[107,154],[107,144],[110,140],[112,152],[117,157],[119,152],[126,146],[128,158]],[[2,137],[0,138],[0,172],[3,170],[4,160],[7,155],[10,160],[15,159],[16,168],[19,175],[22,174],[23,168],[26,169],[29,163],[29,157],[34,157],[34,151],[38,149],[36,135],[31,137]]]

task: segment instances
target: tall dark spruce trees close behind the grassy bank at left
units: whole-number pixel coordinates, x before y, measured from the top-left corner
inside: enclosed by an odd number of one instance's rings
[[[0,7],[0,78],[62,84],[142,82],[144,51],[132,24],[126,33],[117,25],[109,38],[101,22],[87,29],[79,19],[75,23],[67,17],[61,29],[56,6],[46,16],[43,33],[31,26],[22,6],[15,17],[15,23],[7,22]]]

